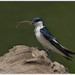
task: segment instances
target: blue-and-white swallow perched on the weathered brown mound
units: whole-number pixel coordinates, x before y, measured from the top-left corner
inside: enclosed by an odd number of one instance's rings
[[[33,18],[32,24],[35,26],[35,36],[44,47],[49,59],[51,59],[49,51],[53,51],[62,55],[67,60],[72,60],[71,54],[75,54],[75,52],[70,51],[58,42],[58,40],[51,34],[51,32],[48,31],[42,18]]]

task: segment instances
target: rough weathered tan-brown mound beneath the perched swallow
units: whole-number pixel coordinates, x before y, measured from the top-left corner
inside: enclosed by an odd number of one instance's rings
[[[58,62],[52,62],[47,54],[34,47],[14,46],[0,57],[0,74],[66,74],[67,69]]]

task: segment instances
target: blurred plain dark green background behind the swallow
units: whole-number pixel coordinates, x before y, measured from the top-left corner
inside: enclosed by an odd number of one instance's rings
[[[15,45],[43,48],[34,36],[34,26],[17,22],[41,17],[48,30],[71,51],[75,51],[75,2],[0,2],[0,56]],[[67,61],[51,52],[53,61],[75,73],[75,56]]]

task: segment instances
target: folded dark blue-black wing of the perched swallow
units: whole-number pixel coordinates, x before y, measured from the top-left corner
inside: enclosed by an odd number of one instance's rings
[[[54,47],[56,47],[60,52],[62,52],[63,54],[65,54],[68,57],[71,57],[68,52],[68,50],[64,47],[62,47],[59,42],[56,40],[56,38],[54,38],[54,36],[47,30],[46,27],[42,28],[40,30],[40,32],[42,33],[42,35],[45,37],[45,39],[47,39]]]

